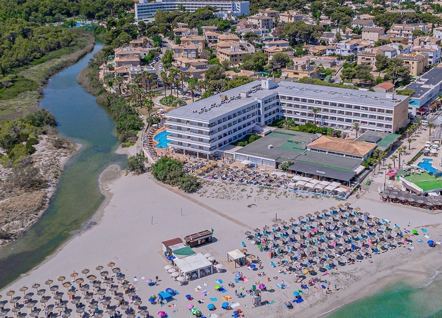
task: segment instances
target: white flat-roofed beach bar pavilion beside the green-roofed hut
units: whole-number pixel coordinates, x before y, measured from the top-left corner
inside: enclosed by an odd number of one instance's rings
[[[196,253],[182,259],[173,260],[185,281],[201,278],[213,273],[213,265],[202,253]]]

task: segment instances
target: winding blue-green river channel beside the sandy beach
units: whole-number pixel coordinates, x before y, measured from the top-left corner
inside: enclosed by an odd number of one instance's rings
[[[115,122],[107,109],[77,83],[94,50],[76,64],[52,76],[44,87],[40,107],[54,114],[62,137],[75,140],[82,149],[65,165],[55,195],[42,218],[26,233],[0,250],[0,288],[51,255],[90,219],[104,200],[98,177],[111,164],[124,167],[126,155],[118,155]]]

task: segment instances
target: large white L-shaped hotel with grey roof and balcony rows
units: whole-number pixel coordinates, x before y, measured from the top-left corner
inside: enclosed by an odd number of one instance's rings
[[[313,122],[313,107],[335,129],[394,133],[408,122],[407,96],[263,79],[168,112],[168,146],[209,157],[276,119]]]

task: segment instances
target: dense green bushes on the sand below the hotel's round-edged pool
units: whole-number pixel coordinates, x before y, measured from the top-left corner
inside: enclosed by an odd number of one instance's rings
[[[162,157],[152,166],[152,175],[158,181],[178,187],[184,192],[193,192],[200,186],[197,177],[183,171],[179,160]]]

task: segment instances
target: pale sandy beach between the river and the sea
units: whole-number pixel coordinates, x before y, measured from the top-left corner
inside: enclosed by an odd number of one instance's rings
[[[55,279],[59,275],[68,277],[74,270],[84,268],[94,269],[98,265],[106,265],[110,261],[134,281],[138,294],[146,304],[151,316],[156,317],[161,309],[170,317],[192,316],[185,299],[186,294],[194,298],[193,304],[202,311],[204,316],[212,313],[219,317],[230,317],[232,311],[221,309],[224,301],[222,296],[232,297],[230,302],[239,302],[246,317],[318,317],[332,309],[342,306],[360,297],[372,294],[388,283],[406,278],[409,283],[425,284],[429,277],[434,276],[441,265],[442,249],[429,247],[426,243],[417,243],[421,238],[426,242],[420,228],[426,228],[432,239],[440,241],[442,238],[441,215],[427,214],[410,210],[404,206],[395,206],[382,203],[372,196],[358,200],[351,198],[353,207],[359,206],[361,212],[369,212],[379,218],[386,218],[391,223],[397,223],[401,228],[419,229],[418,237],[411,237],[413,250],[399,247],[388,250],[386,253],[373,255],[373,263],[363,260],[355,265],[338,267],[338,274],[321,276],[321,279],[330,283],[331,293],[325,290],[309,288],[304,290],[304,302],[294,304],[293,309],[287,309],[284,301],[293,299],[293,291],[300,288],[294,283],[295,275],[279,274],[278,269],[272,268],[266,253],[259,252],[253,245],[249,245],[244,232],[253,228],[262,228],[272,224],[272,219],[288,220],[316,210],[328,209],[344,201],[331,198],[311,198],[295,196],[289,192],[260,189],[235,184],[206,184],[201,190],[192,195],[186,195],[176,189],[171,189],[156,182],[150,174],[140,176],[121,175],[115,168],[108,169],[109,173],[102,175],[102,191],[107,193],[108,200],[102,210],[97,212],[92,222],[88,222],[85,229],[59,249],[55,255],[47,259],[36,269],[22,276],[18,281],[5,288],[0,294],[9,289],[18,291],[23,286],[30,286],[35,282],[44,282],[46,279]],[[409,225],[410,222],[410,225]],[[179,286],[164,267],[168,264],[164,258],[161,242],[175,237],[183,238],[186,235],[206,229],[214,229],[214,240],[209,245],[195,248],[196,252],[211,253],[216,260],[224,265],[225,271],[190,281],[187,285]],[[269,293],[263,293],[263,301],[274,302],[267,306],[251,308],[251,298],[235,297],[235,289],[245,290],[258,280],[257,271],[243,267],[239,270],[248,278],[247,282],[237,284],[235,288],[228,288],[227,284],[234,280],[235,269],[227,262],[227,252],[241,248],[241,242],[246,241],[249,253],[259,256],[264,266],[263,271],[271,281],[266,283]],[[423,262],[422,260],[425,259]],[[157,286],[150,287],[145,279],[155,280],[159,276]],[[273,279],[278,276],[278,280]],[[309,275],[307,275],[309,277]],[[228,289],[221,294],[214,290],[215,280],[221,279]],[[289,287],[283,290],[276,288],[276,284],[283,279]],[[309,279],[309,278],[307,278]],[[335,291],[335,286],[337,291]],[[207,295],[200,295],[195,288],[201,286],[207,290]],[[179,292],[173,307],[150,305],[147,299],[152,294],[158,294],[166,288]],[[217,301],[209,298],[216,297]],[[204,303],[198,303],[198,300]],[[218,309],[210,312],[209,303],[214,303]]]

